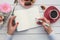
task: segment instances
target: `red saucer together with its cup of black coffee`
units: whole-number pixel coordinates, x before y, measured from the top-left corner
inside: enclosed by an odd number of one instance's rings
[[[56,7],[50,6],[44,12],[44,17],[46,17],[50,23],[55,23],[60,17],[60,12]]]

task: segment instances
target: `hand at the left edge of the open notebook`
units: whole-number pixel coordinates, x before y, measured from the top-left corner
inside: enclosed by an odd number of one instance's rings
[[[15,23],[15,25],[12,24],[12,23],[13,23],[13,20],[15,20],[15,18],[16,18],[16,16],[12,16],[12,17],[9,19],[9,21],[8,21],[8,26],[7,26],[8,30],[7,30],[7,33],[8,33],[9,35],[14,34],[14,32],[15,32],[18,24],[19,24],[18,22]]]

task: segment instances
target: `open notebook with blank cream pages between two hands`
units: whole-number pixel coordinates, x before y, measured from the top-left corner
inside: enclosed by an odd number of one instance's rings
[[[42,13],[39,12],[38,6],[33,6],[29,9],[17,10],[14,12],[16,17],[16,21],[19,22],[17,27],[17,31],[23,31],[30,28],[37,27],[36,18],[41,18]]]

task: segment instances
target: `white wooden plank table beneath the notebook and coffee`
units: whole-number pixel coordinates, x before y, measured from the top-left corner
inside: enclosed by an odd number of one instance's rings
[[[13,5],[13,1],[14,0],[0,0],[0,4],[7,2]],[[35,5],[36,6],[45,5],[46,7],[52,5],[56,6],[60,10],[60,0],[36,0]],[[16,7],[16,10],[21,9],[24,8],[21,7],[20,5]],[[42,13],[41,8],[40,12]],[[58,40],[60,40],[60,19],[56,23],[52,24],[52,29],[55,31]],[[0,40],[3,40],[4,37],[3,35],[5,35],[6,31],[7,31],[6,25],[2,29],[0,29]],[[13,40],[49,40],[49,39],[44,29],[42,27],[37,27],[22,32],[15,32]]]

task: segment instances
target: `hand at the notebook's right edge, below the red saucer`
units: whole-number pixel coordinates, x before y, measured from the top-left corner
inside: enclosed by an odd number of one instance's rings
[[[50,34],[53,30],[50,26],[50,21],[47,20],[46,18],[42,18],[42,19],[38,19],[38,20],[42,20],[43,22],[41,23],[41,25],[44,27],[45,31]],[[47,26],[47,24],[49,24],[49,26]]]

